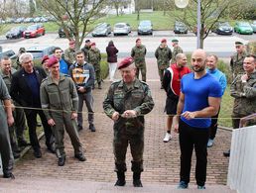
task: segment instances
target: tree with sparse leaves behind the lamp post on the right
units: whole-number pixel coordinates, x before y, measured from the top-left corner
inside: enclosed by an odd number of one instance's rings
[[[169,0],[170,1],[170,0]],[[203,48],[203,41],[207,38],[208,34],[214,28],[217,22],[219,22],[223,16],[225,16],[230,9],[236,8],[237,11],[240,0],[203,0],[200,4],[200,17],[201,17],[201,28],[200,28],[200,46]],[[196,10],[197,0],[191,0],[188,7],[185,9],[179,9],[172,14],[176,20],[185,23],[190,30],[196,32]],[[239,11],[238,11],[239,12]]]

